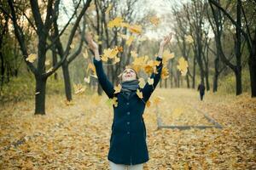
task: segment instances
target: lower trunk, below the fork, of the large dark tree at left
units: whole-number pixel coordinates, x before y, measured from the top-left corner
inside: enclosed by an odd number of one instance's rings
[[[35,75],[35,79],[36,79],[35,115],[45,115],[45,89],[46,89],[47,78]]]

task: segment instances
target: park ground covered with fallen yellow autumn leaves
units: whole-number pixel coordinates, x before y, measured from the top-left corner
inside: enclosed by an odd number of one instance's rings
[[[0,169],[109,169],[113,111],[106,95],[73,98],[67,105],[64,96],[47,96],[45,116],[33,115],[33,100],[2,105]],[[207,113],[223,129],[157,129],[156,111],[165,125],[212,125]],[[200,101],[195,90],[158,88],[143,117],[145,170],[256,169],[256,99],[247,94],[207,93]]]

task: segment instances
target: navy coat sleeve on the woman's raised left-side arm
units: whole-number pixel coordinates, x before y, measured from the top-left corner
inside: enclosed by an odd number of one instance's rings
[[[102,60],[98,61],[95,59],[95,57],[93,57],[93,64],[95,65],[98,82],[101,84],[102,89],[108,95],[108,98],[113,98],[113,84],[109,82],[108,77],[103,70]]]

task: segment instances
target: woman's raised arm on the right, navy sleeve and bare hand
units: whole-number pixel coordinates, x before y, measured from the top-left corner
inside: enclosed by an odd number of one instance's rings
[[[168,42],[172,39],[172,33],[170,33],[168,36],[164,37],[164,39],[160,42],[160,48],[158,52],[158,56],[156,60],[160,61],[160,65],[156,66],[156,71],[157,73],[152,73],[150,78],[154,79],[154,83],[152,85],[149,85],[148,82],[145,84],[142,92],[143,92],[143,99],[145,102],[148,101],[150,95],[154,92],[154,88],[156,88],[158,82],[160,81],[161,77],[161,71],[163,68],[162,64],[162,56],[163,56],[163,51]]]

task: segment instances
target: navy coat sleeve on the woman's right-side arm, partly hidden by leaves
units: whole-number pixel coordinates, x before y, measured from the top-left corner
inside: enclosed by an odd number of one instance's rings
[[[154,88],[156,88],[158,82],[160,81],[161,77],[161,71],[163,68],[162,59],[160,57],[157,57],[156,60],[160,61],[160,65],[156,66],[157,73],[154,72],[151,74],[150,78],[154,79],[154,83],[152,85],[149,85],[148,82],[145,84],[142,92],[143,92],[143,100],[145,102],[148,101],[150,95],[153,93]]]

